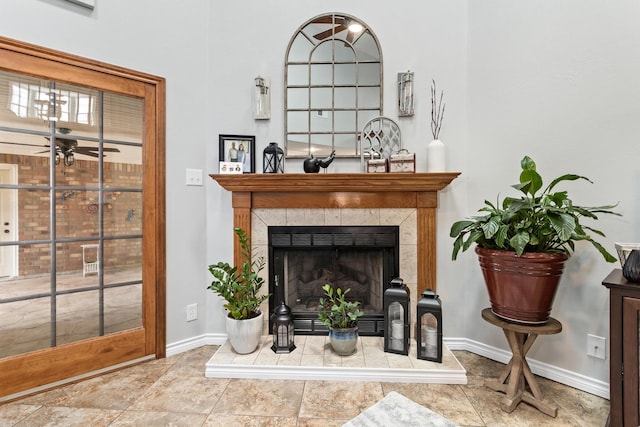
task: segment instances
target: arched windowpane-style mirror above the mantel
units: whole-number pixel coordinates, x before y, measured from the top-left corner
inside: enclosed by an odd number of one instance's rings
[[[362,21],[337,13],[304,23],[285,59],[287,157],[359,156],[359,134],[382,115],[382,52]]]

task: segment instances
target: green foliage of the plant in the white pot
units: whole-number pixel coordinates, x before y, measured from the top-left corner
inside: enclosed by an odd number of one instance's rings
[[[260,277],[260,271],[264,268],[264,258],[258,257],[251,260],[251,249],[246,233],[241,228],[233,231],[240,241],[240,253],[242,265],[231,266],[227,262],[219,262],[209,266],[209,271],[214,277],[211,289],[227,303],[224,305],[229,315],[237,320],[251,319],[260,314],[260,304],[269,298],[269,294],[258,295],[264,284]]]

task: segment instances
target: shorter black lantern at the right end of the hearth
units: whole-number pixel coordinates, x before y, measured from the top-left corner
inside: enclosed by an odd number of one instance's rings
[[[442,363],[442,303],[434,291],[427,289],[418,301],[416,341],[418,359]]]

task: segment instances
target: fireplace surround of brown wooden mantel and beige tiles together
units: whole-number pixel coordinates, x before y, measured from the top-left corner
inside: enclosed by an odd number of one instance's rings
[[[234,227],[251,236],[252,249],[265,260],[269,226],[399,226],[400,276],[409,287],[413,308],[423,290],[436,289],[438,191],[458,175],[443,172],[210,176],[232,192]],[[236,265],[241,262],[239,251],[235,240]]]

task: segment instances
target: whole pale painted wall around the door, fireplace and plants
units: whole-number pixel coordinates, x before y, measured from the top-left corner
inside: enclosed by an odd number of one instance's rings
[[[210,2],[111,0],[88,13],[63,0],[11,2],[0,34],[138,69],[167,79],[168,343],[224,332],[221,303],[206,290],[209,263],[231,260],[231,196],[215,182],[186,187],[185,169],[217,172],[218,134],[255,135],[262,149],[283,141],[283,64],[299,25],[326,12],[367,23],[384,61],[384,110],[399,122],[405,147],[426,170],[431,139],[429,86],[447,103],[441,139],[448,168],[462,175],[441,193],[438,289],[445,335],[507,348],[480,320],[488,306],[475,255],[450,260],[451,223],[485,198],[509,192],[528,154],[543,177],[590,177],[571,185],[582,204],[620,201],[622,219],[597,224],[614,241],[640,241],[640,3],[636,0],[327,0]],[[397,118],[396,73],[416,78],[416,115]],[[251,84],[272,81],[272,118],[254,121]],[[634,139],[635,137],[635,139]],[[301,172],[302,161],[286,164]],[[359,170],[336,160],[330,172]],[[579,247],[567,266],[553,315],[562,334],[541,338],[531,355],[550,365],[608,381],[608,362],[588,358],[586,335],[608,337],[608,295],[600,285],[615,265]],[[185,322],[185,306],[200,319]]]

